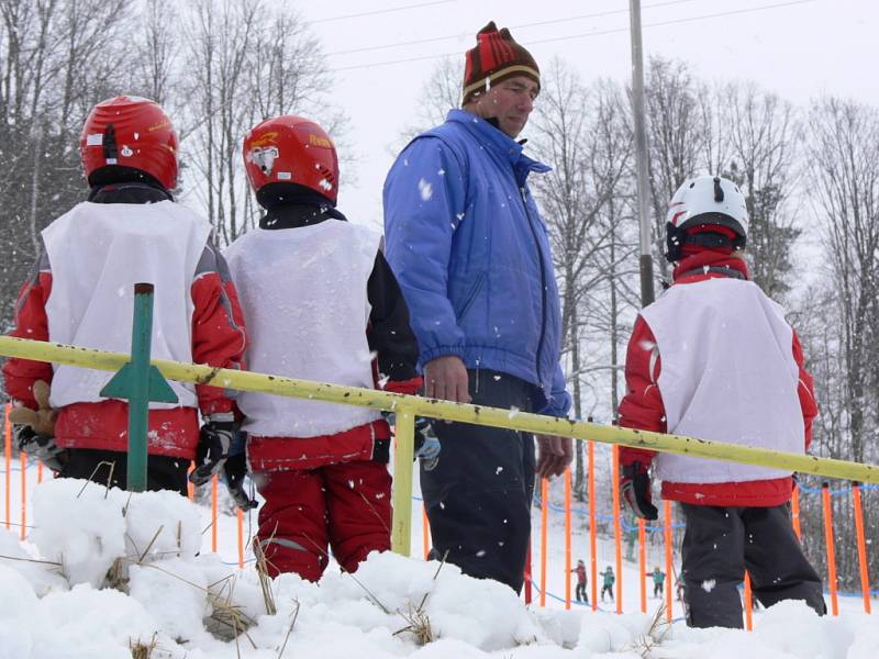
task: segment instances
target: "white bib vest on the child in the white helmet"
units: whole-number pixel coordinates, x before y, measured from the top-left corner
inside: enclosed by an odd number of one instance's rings
[[[802,454],[793,331],[757,284],[713,278],[671,287],[641,312],[656,337],[668,432]],[[768,480],[790,471],[659,454],[679,483]]]

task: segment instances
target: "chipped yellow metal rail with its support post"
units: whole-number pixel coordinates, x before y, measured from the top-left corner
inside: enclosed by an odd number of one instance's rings
[[[129,360],[129,356],[121,353],[108,353],[92,348],[65,346],[10,336],[0,336],[0,355],[112,371],[119,370]],[[415,416],[430,416],[543,435],[564,435],[575,439],[592,439],[604,444],[648,448],[663,453],[712,458],[745,465],[776,467],[828,478],[879,484],[879,466],[876,465],[861,465],[834,458],[819,458],[765,448],[752,448],[680,435],[665,435],[647,431],[602,426],[580,421],[555,418],[542,414],[511,412],[496,407],[482,407],[371,389],[296,380],[251,371],[212,368],[197,364],[182,364],[165,359],[154,359],[152,362],[170,380],[394,411],[397,413],[398,440],[394,459],[392,541],[394,551],[404,555],[409,554],[410,548],[412,436]]]

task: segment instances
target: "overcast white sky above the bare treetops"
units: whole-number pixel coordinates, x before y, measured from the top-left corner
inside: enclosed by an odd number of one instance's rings
[[[557,55],[587,81],[631,79],[628,0],[297,4],[323,43],[334,100],[351,119],[348,141],[359,159],[356,182],[342,172],[340,209],[357,222],[381,223],[388,147],[414,122],[432,67],[443,55],[463,58],[489,20],[510,27],[541,66]],[[706,79],[754,80],[801,104],[826,92],[879,107],[876,0],[642,0],[642,22],[645,55],[683,59]]]

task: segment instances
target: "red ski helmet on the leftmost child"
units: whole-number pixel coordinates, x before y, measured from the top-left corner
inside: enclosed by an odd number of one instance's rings
[[[79,136],[79,154],[89,183],[104,167],[130,167],[168,190],[177,185],[177,133],[149,99],[120,96],[94,105]]]

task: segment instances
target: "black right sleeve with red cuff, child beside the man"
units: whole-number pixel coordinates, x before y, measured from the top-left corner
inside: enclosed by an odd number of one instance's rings
[[[418,372],[419,343],[409,324],[403,293],[381,252],[376,254],[369,275],[367,298],[371,311],[366,338],[369,349],[377,355],[381,389],[418,393],[422,384]]]

